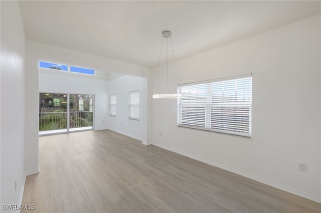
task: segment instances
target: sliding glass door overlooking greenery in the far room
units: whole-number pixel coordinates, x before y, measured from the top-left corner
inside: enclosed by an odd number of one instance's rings
[[[93,129],[94,95],[39,93],[39,134]]]

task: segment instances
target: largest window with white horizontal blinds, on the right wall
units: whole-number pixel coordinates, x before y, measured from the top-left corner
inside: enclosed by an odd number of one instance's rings
[[[178,125],[251,136],[252,76],[178,87]]]

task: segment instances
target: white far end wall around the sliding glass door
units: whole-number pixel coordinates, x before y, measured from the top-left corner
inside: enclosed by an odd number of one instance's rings
[[[55,74],[55,71],[62,73]],[[91,79],[85,76],[70,76],[66,74],[68,73],[64,73],[63,71],[59,70],[50,70],[50,73],[40,71],[39,91],[51,93],[94,94],[95,130],[107,128],[108,81]]]

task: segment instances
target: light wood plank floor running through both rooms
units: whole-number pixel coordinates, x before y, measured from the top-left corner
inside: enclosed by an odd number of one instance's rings
[[[321,212],[321,204],[110,130],[41,136],[21,212]]]

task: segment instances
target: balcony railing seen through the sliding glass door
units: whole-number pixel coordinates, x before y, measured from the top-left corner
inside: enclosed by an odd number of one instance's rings
[[[92,111],[70,111],[69,128],[93,126]],[[40,112],[39,131],[67,129],[67,112]]]

